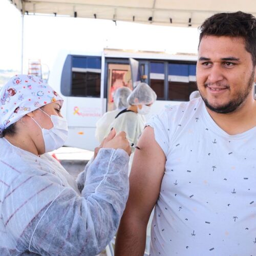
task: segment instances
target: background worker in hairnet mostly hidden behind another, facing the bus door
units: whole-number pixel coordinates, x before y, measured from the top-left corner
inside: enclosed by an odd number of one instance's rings
[[[95,137],[101,142],[108,134],[110,124],[113,122],[119,112],[128,108],[127,97],[131,94],[131,89],[127,87],[120,87],[115,91],[114,103],[116,109],[106,112],[96,123]]]

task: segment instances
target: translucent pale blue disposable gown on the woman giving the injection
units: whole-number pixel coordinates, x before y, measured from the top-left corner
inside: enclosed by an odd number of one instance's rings
[[[0,255],[96,255],[111,241],[129,194],[125,151],[102,148],[77,184],[48,154],[0,148]]]

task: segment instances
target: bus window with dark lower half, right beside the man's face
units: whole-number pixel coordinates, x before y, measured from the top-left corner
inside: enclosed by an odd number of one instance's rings
[[[168,100],[188,101],[196,90],[196,65],[168,63]]]

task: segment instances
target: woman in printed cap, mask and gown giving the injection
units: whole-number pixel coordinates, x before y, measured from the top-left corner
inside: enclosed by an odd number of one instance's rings
[[[75,181],[46,154],[68,136],[62,98],[41,79],[16,75],[0,100],[0,255],[98,254],[129,194],[125,133],[112,130]]]

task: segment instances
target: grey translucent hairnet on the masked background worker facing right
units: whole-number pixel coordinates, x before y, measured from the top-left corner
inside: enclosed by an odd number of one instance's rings
[[[156,93],[146,83],[139,83],[127,98],[129,105],[148,105],[157,99]]]

